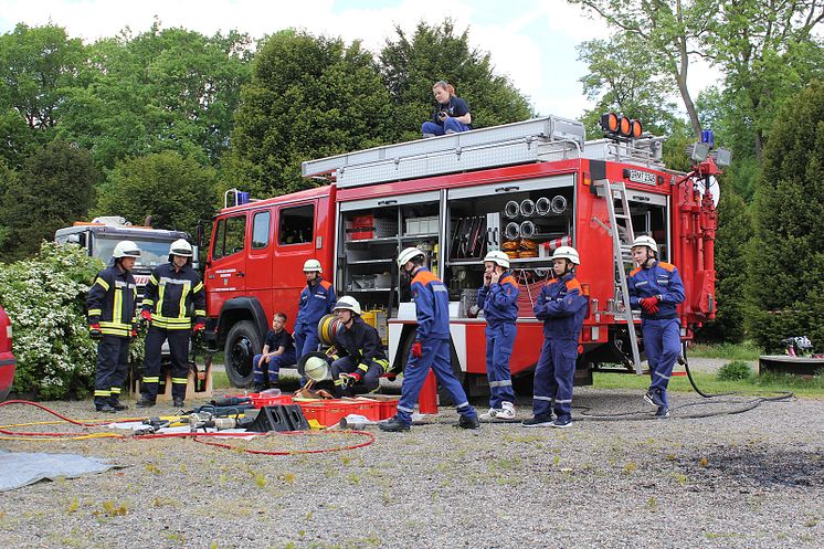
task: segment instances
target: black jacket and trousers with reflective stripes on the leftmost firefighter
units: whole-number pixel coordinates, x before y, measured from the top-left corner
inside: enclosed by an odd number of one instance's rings
[[[135,323],[137,285],[128,271],[113,265],[97,273],[88,291],[88,324],[99,324],[95,405],[119,402],[129,363],[129,336]]]

